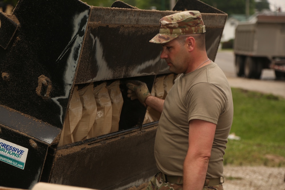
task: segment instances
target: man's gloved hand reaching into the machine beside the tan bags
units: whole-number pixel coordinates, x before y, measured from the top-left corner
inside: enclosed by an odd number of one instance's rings
[[[146,83],[137,80],[129,80],[126,85],[129,88],[128,97],[131,98],[131,100],[139,99],[139,101],[145,105],[146,98],[150,96]]]

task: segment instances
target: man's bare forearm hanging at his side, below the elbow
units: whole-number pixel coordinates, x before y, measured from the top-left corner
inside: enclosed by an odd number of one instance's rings
[[[202,190],[208,169],[209,158],[191,158],[187,155],[184,161],[183,190]]]

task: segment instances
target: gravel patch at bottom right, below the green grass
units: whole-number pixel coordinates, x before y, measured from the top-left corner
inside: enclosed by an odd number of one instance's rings
[[[224,190],[285,190],[285,167],[224,166]]]

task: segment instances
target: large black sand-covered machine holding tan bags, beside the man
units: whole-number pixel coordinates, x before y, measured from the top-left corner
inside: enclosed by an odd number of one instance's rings
[[[198,0],[172,11],[20,0],[0,12],[0,186],[144,187],[157,172],[159,115],[128,98],[126,82],[165,97],[175,73],[149,40],[162,17],[184,10],[201,12],[214,61],[227,14]]]

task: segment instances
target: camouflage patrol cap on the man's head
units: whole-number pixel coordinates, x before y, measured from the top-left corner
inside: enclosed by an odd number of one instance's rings
[[[183,11],[160,19],[159,33],[149,42],[164,44],[179,35],[206,32],[202,15],[199,11]]]

